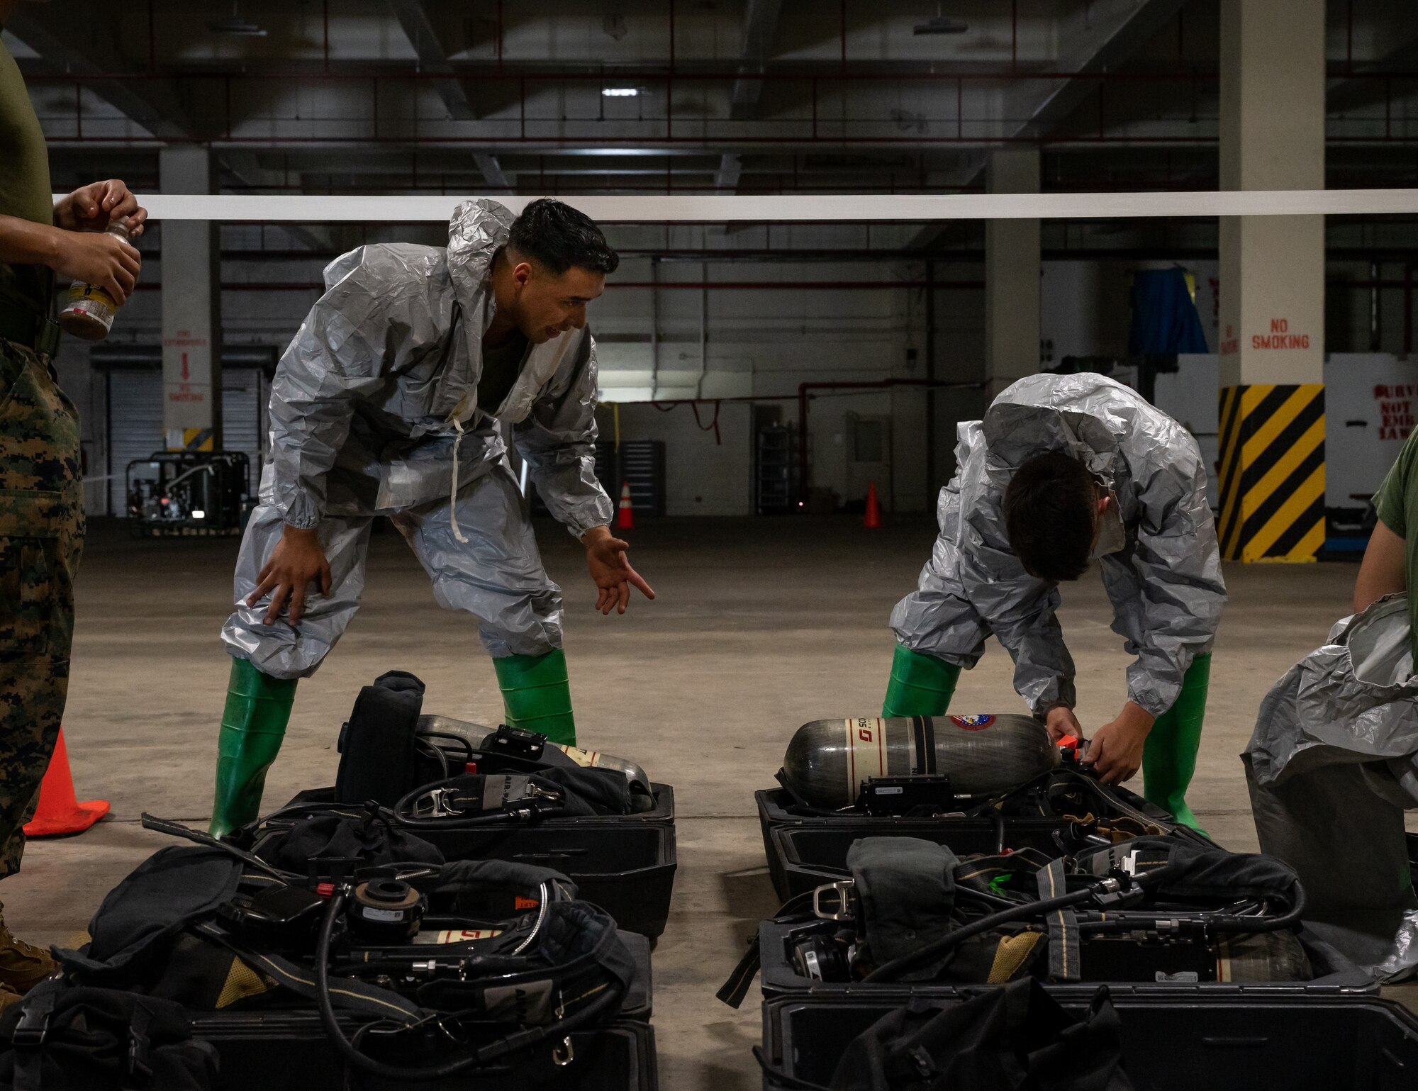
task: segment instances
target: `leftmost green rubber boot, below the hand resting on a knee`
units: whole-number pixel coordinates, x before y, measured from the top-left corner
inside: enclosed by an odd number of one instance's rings
[[[217,735],[217,795],[207,832],[221,837],[254,822],[267,769],[281,752],[295,701],[295,679],[262,674],[250,660],[231,660],[227,707]]]

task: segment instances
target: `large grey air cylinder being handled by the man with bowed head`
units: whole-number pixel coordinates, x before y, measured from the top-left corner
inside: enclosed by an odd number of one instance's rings
[[[1008,792],[1058,765],[1032,716],[814,720],[783,755],[787,788],[810,806],[856,802],[865,781],[944,774],[957,796]]]

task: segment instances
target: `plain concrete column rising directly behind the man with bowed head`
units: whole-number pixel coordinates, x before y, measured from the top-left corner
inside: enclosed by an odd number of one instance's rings
[[[986,164],[988,193],[1038,193],[1039,149],[1000,147]],[[990,398],[1039,370],[1039,221],[984,227],[984,356]]]

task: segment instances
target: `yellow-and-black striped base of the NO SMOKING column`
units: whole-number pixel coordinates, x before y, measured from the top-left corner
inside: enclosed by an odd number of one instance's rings
[[[1313,561],[1324,544],[1324,384],[1221,388],[1221,555]]]

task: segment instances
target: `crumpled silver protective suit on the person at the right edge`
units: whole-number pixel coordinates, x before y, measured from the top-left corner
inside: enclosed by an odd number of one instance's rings
[[[1261,703],[1241,755],[1261,850],[1300,876],[1306,922],[1375,976],[1418,968],[1404,810],[1418,808],[1408,599],[1344,618]]]

